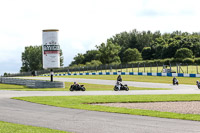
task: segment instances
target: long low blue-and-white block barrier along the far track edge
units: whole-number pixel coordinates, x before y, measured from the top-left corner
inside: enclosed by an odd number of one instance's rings
[[[54,74],[54,76],[70,76],[70,75],[144,75],[144,76],[169,76],[169,77],[200,77],[200,74],[187,73],[143,73],[143,72],[98,72],[98,73],[68,73]],[[42,76],[50,76],[44,74]]]

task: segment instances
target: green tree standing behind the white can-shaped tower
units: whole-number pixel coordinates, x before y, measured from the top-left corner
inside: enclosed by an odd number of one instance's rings
[[[22,67],[20,72],[42,70],[42,46],[27,46],[22,52]],[[60,65],[63,66],[62,50],[60,51]]]

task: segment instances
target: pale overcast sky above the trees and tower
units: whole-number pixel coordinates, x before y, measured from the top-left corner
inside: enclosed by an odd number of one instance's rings
[[[0,74],[17,73],[25,46],[59,29],[64,66],[113,35],[138,31],[200,32],[199,0],[0,0]]]

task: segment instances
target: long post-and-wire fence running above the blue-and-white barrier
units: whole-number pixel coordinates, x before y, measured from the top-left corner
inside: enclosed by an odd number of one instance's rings
[[[144,72],[144,73],[187,73],[199,74],[199,66],[197,64],[188,65],[182,63],[174,64],[119,64],[119,65],[100,65],[100,66],[80,66],[80,67],[64,67],[53,69],[54,73],[88,73],[88,72]],[[50,70],[40,70],[35,73],[22,72],[4,75],[5,77],[15,76],[32,76],[48,74]]]

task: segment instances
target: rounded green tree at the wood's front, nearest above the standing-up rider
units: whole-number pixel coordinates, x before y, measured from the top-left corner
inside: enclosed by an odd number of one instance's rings
[[[124,52],[125,63],[131,62],[131,61],[140,61],[140,60],[142,60],[142,55],[136,48],[134,49],[128,48]]]

